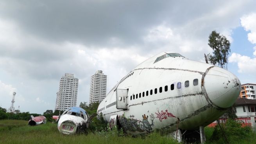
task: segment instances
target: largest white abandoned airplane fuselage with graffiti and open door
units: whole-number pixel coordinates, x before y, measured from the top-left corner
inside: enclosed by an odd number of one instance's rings
[[[160,53],[145,60],[113,87],[97,113],[128,133],[197,130],[222,116],[241,89],[231,72]]]

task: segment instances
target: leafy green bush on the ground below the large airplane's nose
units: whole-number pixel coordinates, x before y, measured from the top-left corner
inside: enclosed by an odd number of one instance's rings
[[[228,119],[226,124],[221,124],[230,144],[238,144],[243,141],[250,140],[249,138],[254,135],[250,127],[241,127],[241,125],[241,123],[238,123],[233,119]],[[210,140],[216,144],[226,143],[225,137],[218,125],[215,126]]]

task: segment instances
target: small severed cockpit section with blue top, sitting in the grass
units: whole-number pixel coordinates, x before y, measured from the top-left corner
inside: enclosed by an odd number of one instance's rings
[[[71,107],[63,112],[58,119],[58,130],[63,134],[84,132],[88,128],[88,114],[80,107]]]

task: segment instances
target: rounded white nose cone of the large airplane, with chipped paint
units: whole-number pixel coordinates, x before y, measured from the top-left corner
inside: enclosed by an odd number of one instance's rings
[[[231,107],[241,91],[240,80],[231,72],[214,66],[203,78],[204,88],[211,102],[220,107]]]

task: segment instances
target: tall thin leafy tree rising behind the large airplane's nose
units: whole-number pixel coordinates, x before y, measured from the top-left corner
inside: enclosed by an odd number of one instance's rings
[[[213,49],[213,55],[209,55],[209,61],[213,65],[218,64],[221,68],[225,68],[227,56],[230,52],[229,40],[213,30],[209,36],[208,42],[208,45]]]

